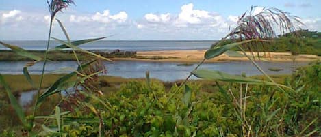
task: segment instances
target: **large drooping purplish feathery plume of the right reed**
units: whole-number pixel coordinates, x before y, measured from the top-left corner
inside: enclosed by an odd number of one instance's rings
[[[251,39],[269,40],[277,37],[277,33],[293,32],[300,29],[299,25],[303,25],[299,17],[292,16],[289,12],[283,12],[275,7],[262,7],[261,11],[257,8],[259,7],[253,6],[250,12],[245,12],[240,16],[237,27],[228,35],[229,39],[234,42]],[[257,52],[259,52],[258,46],[264,48],[264,42],[251,42],[244,45],[252,55],[253,48]]]

